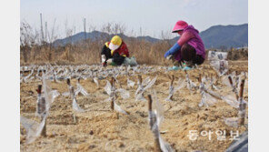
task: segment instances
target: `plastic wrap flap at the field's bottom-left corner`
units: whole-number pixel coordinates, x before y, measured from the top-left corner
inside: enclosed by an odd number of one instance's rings
[[[34,142],[36,137],[40,136],[43,127],[45,127],[45,118],[41,121],[40,124],[38,124],[33,120],[27,119],[22,116],[20,117],[21,124],[23,127],[25,127],[26,130],[26,144]]]

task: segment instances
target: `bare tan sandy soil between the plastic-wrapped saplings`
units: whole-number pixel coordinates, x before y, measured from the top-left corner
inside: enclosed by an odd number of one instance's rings
[[[247,61],[229,62],[230,71],[247,72]],[[189,71],[192,81],[198,85],[196,77],[199,73],[204,75],[214,75],[214,70],[204,64],[203,71],[198,69]],[[175,81],[179,77],[184,78],[184,71],[171,71],[164,73],[161,71],[152,74],[142,75],[143,78],[158,76],[152,87],[156,91],[159,101],[164,106],[164,122],[160,130],[164,141],[168,142],[176,151],[224,151],[231,144],[231,131],[239,131],[239,134],[247,130],[247,125],[243,127],[228,127],[224,124],[223,117],[237,117],[238,111],[229,106],[224,101],[218,100],[214,106],[199,107],[201,95],[198,91],[191,93],[187,88],[182,88],[174,94],[174,101],[168,102],[164,99],[168,96],[170,80],[167,75],[174,75]],[[108,79],[108,78],[107,78]],[[116,99],[116,103],[130,115],[117,114],[110,110],[110,103],[104,102],[108,95],[105,93],[105,79],[100,80],[100,88],[97,88],[92,79],[82,79],[81,85],[90,96],[77,96],[78,105],[89,110],[85,113],[75,113],[76,123],[73,119],[72,100],[69,96],[58,96],[55,99],[50,115],[46,120],[47,137],[38,137],[34,143],[25,144],[25,129],[21,126],[20,149],[21,151],[153,151],[154,137],[148,125],[147,103],[135,101],[134,88],[127,88],[126,76],[118,76],[123,88],[130,92],[130,98],[124,100],[121,97]],[[137,82],[136,76],[129,79]],[[35,89],[40,85],[40,81],[22,83],[20,86],[20,115],[40,122],[35,117],[35,106],[37,93]],[[76,86],[76,80],[72,79],[71,84]],[[231,89],[224,86],[220,81],[216,86],[221,87],[218,91],[221,95],[231,93]],[[61,83],[51,82],[51,87],[60,93],[68,91],[65,81]],[[116,86],[119,87],[119,86]],[[245,84],[244,100],[248,101],[248,85]],[[145,96],[150,90],[145,92]],[[247,107],[248,108],[248,107]],[[247,123],[247,119],[245,120]],[[190,140],[188,137],[190,130],[202,131],[217,130],[226,131],[225,140],[218,140],[213,133],[209,136],[197,137]]]

